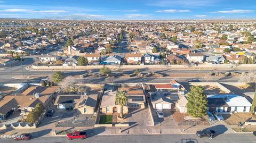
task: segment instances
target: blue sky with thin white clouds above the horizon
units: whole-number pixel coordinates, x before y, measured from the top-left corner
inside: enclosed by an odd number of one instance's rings
[[[0,0],[0,18],[256,19],[255,0]]]

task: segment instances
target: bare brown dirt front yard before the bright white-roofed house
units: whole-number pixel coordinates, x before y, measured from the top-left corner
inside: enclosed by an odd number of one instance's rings
[[[249,113],[234,113],[234,114],[223,114],[222,115],[227,124],[238,124],[238,122],[245,122],[246,120],[256,120],[256,116],[251,116]]]

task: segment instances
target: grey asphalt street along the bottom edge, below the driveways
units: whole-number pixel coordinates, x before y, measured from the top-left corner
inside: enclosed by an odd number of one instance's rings
[[[198,138],[195,134],[172,134],[172,135],[152,135],[152,136],[94,136],[89,137],[84,140],[67,140],[65,137],[41,137],[41,138],[35,138],[31,139],[29,141],[19,141],[19,142],[36,142],[36,143],[45,143],[45,142],[51,142],[51,143],[65,143],[65,142],[168,142],[168,143],[201,143],[201,142],[232,142],[232,143],[251,143],[255,142],[256,137],[252,134],[220,134],[219,136],[213,138],[210,140],[209,138]],[[0,140],[0,143],[9,143],[14,142],[11,139],[2,139]]]

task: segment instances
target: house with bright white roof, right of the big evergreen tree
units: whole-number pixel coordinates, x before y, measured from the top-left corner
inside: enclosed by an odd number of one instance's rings
[[[231,113],[250,112],[252,104],[239,95],[207,95],[207,111]]]

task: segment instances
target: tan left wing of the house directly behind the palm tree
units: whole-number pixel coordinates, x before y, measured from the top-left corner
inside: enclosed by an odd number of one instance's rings
[[[116,105],[116,91],[107,90],[102,95],[100,104],[101,113],[121,113],[121,106]],[[128,107],[123,106],[123,113],[128,113]]]

